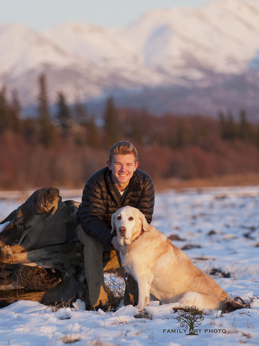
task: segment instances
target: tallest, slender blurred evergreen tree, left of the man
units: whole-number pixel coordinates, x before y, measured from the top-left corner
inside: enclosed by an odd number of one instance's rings
[[[50,122],[48,97],[46,88],[46,76],[41,74],[39,77],[39,124],[40,124],[40,141],[46,146],[55,145],[55,129]]]

